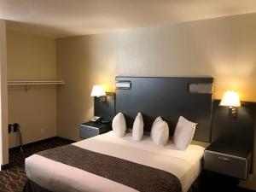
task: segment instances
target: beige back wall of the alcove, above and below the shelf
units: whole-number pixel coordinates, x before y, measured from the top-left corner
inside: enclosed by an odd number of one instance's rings
[[[9,80],[56,79],[55,39],[7,31]],[[24,143],[56,135],[55,86],[9,86],[9,123],[19,123]],[[19,144],[17,133],[9,134],[9,148]]]

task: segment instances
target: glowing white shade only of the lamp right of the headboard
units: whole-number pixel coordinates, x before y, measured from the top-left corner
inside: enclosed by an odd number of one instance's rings
[[[240,99],[239,95],[236,91],[227,90],[222,97],[221,102],[219,103],[220,106],[229,106],[229,107],[240,107]]]

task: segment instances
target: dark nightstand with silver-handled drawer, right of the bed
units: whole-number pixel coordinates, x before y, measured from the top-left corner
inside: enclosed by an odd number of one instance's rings
[[[204,169],[236,179],[247,180],[251,169],[252,148],[246,144],[218,141],[204,153]]]

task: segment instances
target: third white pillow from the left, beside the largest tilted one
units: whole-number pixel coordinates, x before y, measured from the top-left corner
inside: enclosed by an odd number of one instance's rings
[[[155,120],[152,127],[152,139],[155,144],[165,145],[169,139],[169,126],[162,119]]]

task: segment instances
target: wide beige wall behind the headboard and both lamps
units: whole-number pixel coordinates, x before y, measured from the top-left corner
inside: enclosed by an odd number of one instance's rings
[[[92,85],[113,90],[116,75],[212,76],[215,98],[231,89],[256,102],[255,20],[239,15],[58,39],[57,76],[66,82],[57,92],[58,136],[79,140],[79,123],[93,114]]]

